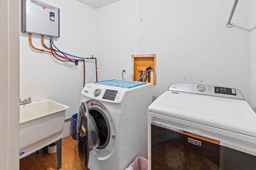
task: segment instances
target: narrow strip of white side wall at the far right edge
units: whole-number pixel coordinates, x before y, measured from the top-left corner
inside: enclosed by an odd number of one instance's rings
[[[250,106],[256,111],[256,2],[250,0]]]

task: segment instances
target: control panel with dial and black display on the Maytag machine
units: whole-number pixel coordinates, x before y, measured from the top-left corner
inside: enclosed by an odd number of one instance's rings
[[[173,83],[168,90],[245,100],[240,90],[224,86],[193,83]]]

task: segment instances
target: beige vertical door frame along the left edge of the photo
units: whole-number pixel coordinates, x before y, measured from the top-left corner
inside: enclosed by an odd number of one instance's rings
[[[10,5],[11,4],[11,5]],[[0,2],[0,166],[19,169],[19,3]]]

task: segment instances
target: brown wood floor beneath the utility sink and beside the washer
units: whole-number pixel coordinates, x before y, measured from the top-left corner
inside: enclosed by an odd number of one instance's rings
[[[42,149],[38,151],[39,154],[34,152],[20,160],[20,170],[57,170],[57,154],[42,154]],[[62,168],[60,170],[82,170],[76,140],[71,135],[62,139]]]

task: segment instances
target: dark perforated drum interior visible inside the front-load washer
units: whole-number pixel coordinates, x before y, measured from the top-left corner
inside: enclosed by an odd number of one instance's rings
[[[89,113],[92,115],[98,129],[100,143],[97,148],[104,149],[108,145],[110,139],[110,125],[108,123],[108,119],[106,118],[106,115],[97,107],[92,107],[89,110]]]

